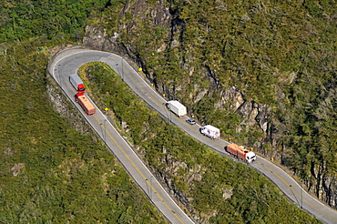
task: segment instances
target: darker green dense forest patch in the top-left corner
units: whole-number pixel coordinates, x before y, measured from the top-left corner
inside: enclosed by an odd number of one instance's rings
[[[108,0],[1,0],[0,43],[43,36],[56,42],[80,41],[88,15],[100,16]]]

